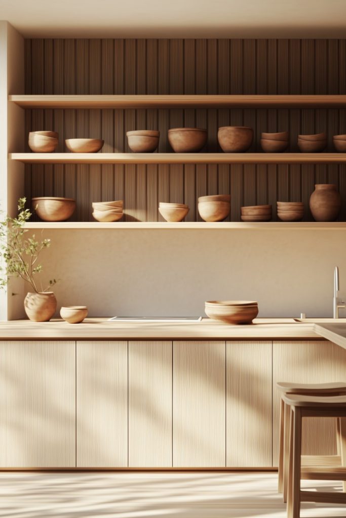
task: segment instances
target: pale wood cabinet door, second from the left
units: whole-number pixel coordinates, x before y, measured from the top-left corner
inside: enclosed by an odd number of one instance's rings
[[[128,465],[128,345],[77,342],[77,467]]]

